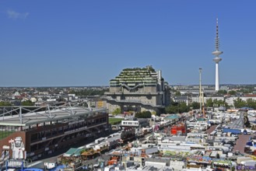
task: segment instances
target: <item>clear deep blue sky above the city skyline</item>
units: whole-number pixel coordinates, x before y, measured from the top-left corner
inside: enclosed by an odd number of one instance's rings
[[[171,85],[256,83],[256,1],[0,1],[0,86],[108,86],[153,65]]]

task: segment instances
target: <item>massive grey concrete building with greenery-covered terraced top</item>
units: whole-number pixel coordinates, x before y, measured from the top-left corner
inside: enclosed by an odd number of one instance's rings
[[[110,113],[117,108],[122,113],[144,110],[160,113],[170,104],[169,86],[164,82],[162,72],[156,72],[152,66],[124,69],[110,80],[110,90],[105,95]]]

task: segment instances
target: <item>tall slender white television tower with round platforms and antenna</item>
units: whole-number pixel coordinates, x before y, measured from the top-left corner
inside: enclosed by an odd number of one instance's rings
[[[218,19],[216,22],[216,38],[215,38],[215,51],[212,52],[215,55],[213,61],[215,62],[215,91],[219,91],[219,61],[222,58],[219,58],[220,54],[223,54],[223,51],[219,51],[219,23]]]

